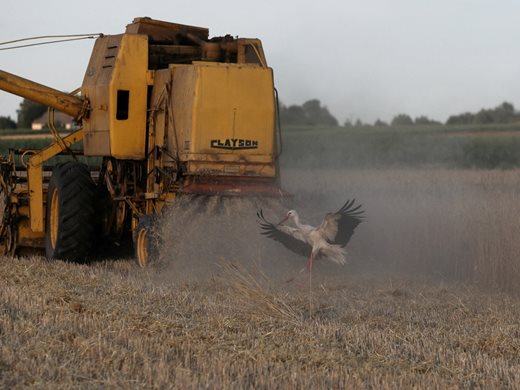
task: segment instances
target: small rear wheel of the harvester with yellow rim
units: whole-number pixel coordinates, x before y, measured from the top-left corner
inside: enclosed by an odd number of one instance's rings
[[[161,235],[156,215],[143,215],[139,218],[134,234],[135,261],[146,268],[159,260]]]

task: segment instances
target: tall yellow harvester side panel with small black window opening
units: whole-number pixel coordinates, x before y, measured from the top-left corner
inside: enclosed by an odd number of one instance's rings
[[[148,38],[99,38],[83,81],[91,102],[84,123],[85,155],[143,159],[148,93]]]

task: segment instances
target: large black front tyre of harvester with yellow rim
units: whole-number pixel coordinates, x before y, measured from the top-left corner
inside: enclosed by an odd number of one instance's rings
[[[58,164],[47,191],[45,254],[48,259],[87,262],[95,239],[96,185],[86,165]]]

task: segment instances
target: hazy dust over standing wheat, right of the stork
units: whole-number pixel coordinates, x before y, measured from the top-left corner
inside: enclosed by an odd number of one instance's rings
[[[366,221],[348,245],[352,273],[520,291],[518,170],[315,169],[285,177],[307,204],[330,208],[345,197],[363,204]]]

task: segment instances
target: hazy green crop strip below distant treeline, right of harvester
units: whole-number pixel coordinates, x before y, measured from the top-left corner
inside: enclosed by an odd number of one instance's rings
[[[287,128],[286,166],[514,168],[520,126]]]

